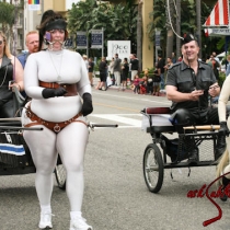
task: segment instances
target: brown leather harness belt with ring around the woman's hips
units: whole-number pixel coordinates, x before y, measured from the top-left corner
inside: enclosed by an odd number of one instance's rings
[[[42,119],[41,117],[38,117],[35,113],[32,112],[31,110],[31,105],[27,106],[26,108],[26,116],[32,120],[32,122],[36,122],[36,123],[28,123],[25,125],[25,127],[31,127],[34,125],[44,125],[46,126],[48,129],[55,131],[55,133],[59,133],[61,129],[64,129],[66,126],[68,126],[70,123],[72,122],[78,122],[76,120],[79,116],[81,116],[82,114],[79,113],[76,116],[73,116],[72,118],[65,120],[62,123],[53,123],[53,122],[47,122],[45,119]],[[79,120],[80,122],[80,120]]]

